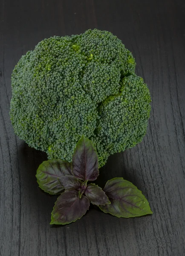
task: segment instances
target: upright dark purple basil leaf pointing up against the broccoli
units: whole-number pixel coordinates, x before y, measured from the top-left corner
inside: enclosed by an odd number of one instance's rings
[[[95,147],[88,138],[81,137],[72,156],[72,170],[80,180],[96,180],[98,171],[98,155]]]

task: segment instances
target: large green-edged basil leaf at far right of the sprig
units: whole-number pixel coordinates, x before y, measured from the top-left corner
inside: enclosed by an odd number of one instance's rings
[[[142,192],[133,183],[123,178],[108,180],[103,190],[111,202],[111,204],[99,206],[105,213],[123,218],[153,213]]]

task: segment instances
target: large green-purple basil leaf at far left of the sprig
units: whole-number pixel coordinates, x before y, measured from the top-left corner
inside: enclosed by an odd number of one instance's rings
[[[71,163],[63,160],[47,160],[38,167],[36,177],[41,189],[51,195],[58,195],[64,191],[57,179],[62,175],[72,175]]]

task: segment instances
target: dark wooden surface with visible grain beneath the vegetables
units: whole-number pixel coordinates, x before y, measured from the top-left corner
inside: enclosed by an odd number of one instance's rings
[[[98,183],[124,177],[153,215],[116,218],[91,207],[73,224],[50,227],[56,197],[38,189],[46,154],[14,134],[11,73],[43,38],[109,30],[136,58],[152,96],[147,135],[111,156]],[[0,256],[185,255],[185,1],[0,0]]]

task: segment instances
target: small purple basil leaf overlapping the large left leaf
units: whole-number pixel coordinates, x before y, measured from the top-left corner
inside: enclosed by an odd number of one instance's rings
[[[81,188],[82,181],[78,180],[76,177],[72,175],[65,175],[58,178],[58,182],[64,189],[76,189],[79,190]]]

